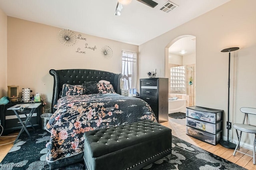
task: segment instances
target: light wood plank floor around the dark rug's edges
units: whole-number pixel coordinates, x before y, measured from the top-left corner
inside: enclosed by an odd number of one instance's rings
[[[173,121],[172,120],[173,120],[172,118],[169,118],[168,122],[161,123],[162,125],[172,129],[172,135],[174,135],[178,138],[181,138],[191,144],[194,144],[204,150],[207,150],[208,152],[216,154],[226,160],[229,160],[230,162],[238,164],[248,170],[256,170],[256,165],[253,164],[252,157],[241,154],[239,152],[236,153],[236,156],[233,156],[234,150],[232,150],[232,149],[224,148],[220,144],[217,144],[216,146],[214,146],[214,145],[208,144],[206,142],[202,142],[200,140],[192,138],[192,137],[186,135],[185,119],[180,119],[180,120],[176,119]],[[18,134],[18,132],[14,132],[12,134]],[[0,139],[1,139],[0,144],[11,142],[11,141],[15,140],[15,138],[3,140],[6,138],[2,138],[2,137],[0,137]],[[6,145],[0,146],[0,162],[3,160],[4,156],[6,156],[6,154],[8,153],[10,148],[12,148],[12,146],[13,146],[13,142],[11,144],[6,144]],[[244,151],[246,151],[247,154],[252,155],[251,150],[244,149]]]

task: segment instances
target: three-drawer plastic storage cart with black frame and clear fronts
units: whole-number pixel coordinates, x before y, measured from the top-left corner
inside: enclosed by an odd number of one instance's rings
[[[222,139],[223,110],[199,106],[186,108],[186,134],[216,145]]]

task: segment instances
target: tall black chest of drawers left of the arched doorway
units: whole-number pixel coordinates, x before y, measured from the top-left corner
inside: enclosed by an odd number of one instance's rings
[[[140,79],[140,98],[150,105],[158,123],[168,121],[168,78]]]

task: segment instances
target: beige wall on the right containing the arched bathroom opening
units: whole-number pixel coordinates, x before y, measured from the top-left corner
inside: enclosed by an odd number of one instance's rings
[[[238,46],[240,49],[231,53],[230,121],[241,123],[240,107],[256,107],[255,6],[255,0],[243,0],[242,3],[240,0],[232,0],[139,45],[139,78],[146,78],[146,72],[152,68],[158,70],[157,77],[164,77],[165,51],[167,51],[165,48],[180,36],[195,36],[196,105],[223,109],[224,125],[226,125],[228,53],[220,51],[227,47]],[[147,64],[145,61],[148,61]],[[256,119],[250,118],[250,121],[256,124]],[[224,136],[227,136],[226,129]],[[237,140],[233,128],[231,137]],[[244,136],[242,142],[252,144],[253,136],[247,138]]]

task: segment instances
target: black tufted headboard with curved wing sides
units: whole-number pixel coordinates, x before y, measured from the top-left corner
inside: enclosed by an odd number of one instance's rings
[[[62,91],[63,84],[70,85],[82,85],[84,82],[88,81],[100,81],[106,80],[110,81],[113,85],[116,93],[120,94],[120,79],[122,77],[122,73],[111,73],[108,71],[100,71],[100,70],[92,70],[92,69],[64,69],[64,70],[54,70],[50,69],[50,75],[54,77],[54,86],[53,86],[53,94],[52,94],[52,113],[56,109],[54,109],[54,105],[58,101],[60,97],[60,93]]]

